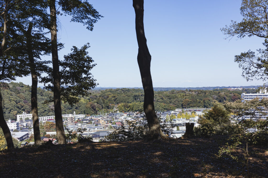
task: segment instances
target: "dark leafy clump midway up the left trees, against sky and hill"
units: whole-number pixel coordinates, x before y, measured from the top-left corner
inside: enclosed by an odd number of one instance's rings
[[[96,65],[90,56],[88,56],[87,49],[89,43],[84,45],[81,49],[73,46],[72,53],[64,56],[63,61],[59,61],[61,66],[61,99],[63,102],[73,106],[79,102],[80,97],[89,96],[88,90],[94,88],[96,80],[92,77],[90,70]],[[41,82],[45,84],[45,89],[53,91],[53,69],[49,68],[49,74],[42,77]],[[50,102],[53,98],[50,97]]]

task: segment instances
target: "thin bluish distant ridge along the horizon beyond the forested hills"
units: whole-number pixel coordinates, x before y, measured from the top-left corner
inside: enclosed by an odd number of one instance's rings
[[[44,86],[39,86],[43,89]],[[154,87],[155,91],[169,91],[169,90],[214,90],[214,89],[224,89],[224,88],[255,88],[257,86],[203,86],[203,87]],[[96,87],[92,90],[106,90],[106,89],[117,89],[117,88],[129,88],[129,89],[143,89],[142,87]]]

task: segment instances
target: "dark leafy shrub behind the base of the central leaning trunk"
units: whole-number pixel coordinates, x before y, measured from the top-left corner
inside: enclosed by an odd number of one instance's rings
[[[160,118],[158,118],[160,123],[160,128],[163,133],[169,135],[169,133],[173,133],[174,125],[168,125],[166,121],[162,122]],[[105,137],[107,141],[129,141],[129,140],[140,140],[145,139],[149,133],[149,126],[144,117],[140,121],[127,121],[128,129],[126,130],[124,125],[121,125],[120,128],[114,130],[114,132],[110,133],[110,135]]]

